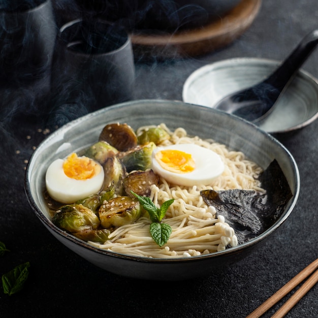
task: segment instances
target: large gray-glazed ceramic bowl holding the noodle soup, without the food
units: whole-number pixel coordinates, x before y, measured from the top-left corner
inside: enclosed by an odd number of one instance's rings
[[[144,124],[166,123],[170,129],[185,128],[190,135],[213,138],[233,150],[243,151],[264,169],[275,158],[293,193],[281,216],[268,230],[247,243],[208,255],[160,259],[122,255],[102,250],[55,227],[44,198],[45,173],[49,164],[96,142],[111,122],[126,122],[136,129]],[[35,215],[62,244],[92,264],[123,276],[153,280],[182,280],[208,276],[219,267],[232,266],[249,255],[289,217],[299,194],[299,172],[294,158],[271,135],[257,126],[208,107],[182,102],[141,100],[117,104],[71,121],[51,134],[35,150],[25,175],[27,199]]]

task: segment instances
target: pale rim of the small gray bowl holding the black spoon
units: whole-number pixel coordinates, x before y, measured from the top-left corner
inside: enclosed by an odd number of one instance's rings
[[[239,62],[251,62],[252,64],[257,63],[257,62],[262,62],[263,64],[267,64],[267,65],[274,65],[274,66],[278,66],[282,61],[281,60],[277,60],[277,59],[270,59],[270,58],[262,58],[262,57],[232,57],[232,58],[227,58],[227,59],[222,59],[222,60],[218,60],[215,61],[213,63],[209,63],[205,66],[200,67],[199,69],[195,70],[194,72],[192,72],[184,81],[183,83],[183,87],[182,87],[182,101],[184,103],[187,103],[185,101],[185,89],[189,87],[190,85],[190,79],[192,78],[196,78],[195,75],[196,73],[199,71],[204,70],[204,68],[208,69],[211,66],[215,66],[217,67],[218,65],[222,65],[225,62],[235,62],[235,61],[239,61]],[[303,69],[299,69],[296,76],[302,76],[305,79],[310,80],[312,83],[314,83],[317,86],[317,90],[318,90],[318,79],[316,79],[313,75],[311,75],[309,72],[303,70]],[[209,107],[209,106],[205,106],[208,108],[212,108],[214,109],[214,107]],[[315,121],[318,118],[318,107],[317,107],[317,111],[316,113],[311,116],[310,118],[308,118],[307,120],[304,120],[303,122],[296,124],[294,126],[291,126],[287,129],[284,130],[275,130],[275,131],[268,131],[267,133],[269,134],[284,134],[284,133],[290,133],[290,132],[294,132],[296,130],[299,130],[301,128],[304,128],[305,126],[309,125],[310,123],[312,123],[313,121]]]

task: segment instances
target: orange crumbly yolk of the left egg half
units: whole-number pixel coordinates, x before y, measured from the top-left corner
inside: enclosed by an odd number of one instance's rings
[[[88,157],[78,157],[76,153],[70,154],[63,163],[64,173],[72,179],[86,180],[100,172],[100,166]]]

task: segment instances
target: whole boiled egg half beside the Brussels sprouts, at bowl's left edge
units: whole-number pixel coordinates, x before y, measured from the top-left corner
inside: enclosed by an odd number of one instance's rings
[[[92,159],[76,153],[66,160],[51,163],[45,176],[49,196],[61,203],[74,203],[98,193],[104,183],[103,167]]]

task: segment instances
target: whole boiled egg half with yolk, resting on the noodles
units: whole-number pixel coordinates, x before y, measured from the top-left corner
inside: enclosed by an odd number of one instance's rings
[[[220,156],[196,144],[157,147],[152,153],[152,170],[173,184],[209,185],[222,174]]]

